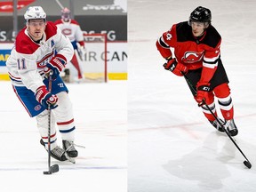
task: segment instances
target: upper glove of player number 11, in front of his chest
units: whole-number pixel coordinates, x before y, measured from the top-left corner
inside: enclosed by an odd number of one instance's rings
[[[50,76],[50,72],[52,71],[52,80],[55,80],[60,75],[63,68],[65,68],[65,65],[65,60],[62,60],[60,57],[53,57],[52,60],[46,64],[44,74],[48,78],[48,76]]]

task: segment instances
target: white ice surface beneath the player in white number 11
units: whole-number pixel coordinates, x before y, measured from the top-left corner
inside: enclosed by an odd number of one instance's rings
[[[76,121],[76,164],[59,162],[48,170],[36,119],[30,118],[12,91],[0,82],[0,191],[127,191],[126,82],[68,84]],[[59,144],[61,142],[60,134]]]

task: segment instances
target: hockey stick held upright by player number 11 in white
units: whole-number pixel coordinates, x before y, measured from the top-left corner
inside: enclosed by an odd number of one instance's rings
[[[49,92],[52,92],[52,74],[49,76]],[[48,171],[44,174],[52,174],[54,172],[59,172],[59,165],[53,164],[51,166],[51,106],[48,104]]]

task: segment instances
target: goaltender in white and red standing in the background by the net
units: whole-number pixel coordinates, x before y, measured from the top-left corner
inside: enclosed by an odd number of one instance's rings
[[[71,44],[74,47],[75,52],[78,53],[80,59],[84,58],[84,35],[76,20],[71,20],[70,11],[68,8],[64,8],[61,11],[61,19],[55,21],[55,25],[60,28],[61,32],[68,36]],[[77,46],[77,43],[80,47]],[[79,65],[79,61],[76,58],[76,53],[72,57],[71,63],[77,70],[77,79],[83,78],[83,71]]]

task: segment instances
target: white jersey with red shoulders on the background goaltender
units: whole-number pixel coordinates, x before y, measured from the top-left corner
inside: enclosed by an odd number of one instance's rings
[[[65,22],[64,20],[56,20],[55,25],[60,28],[62,34],[68,36],[71,42],[84,41],[83,32],[76,20],[69,20]]]

